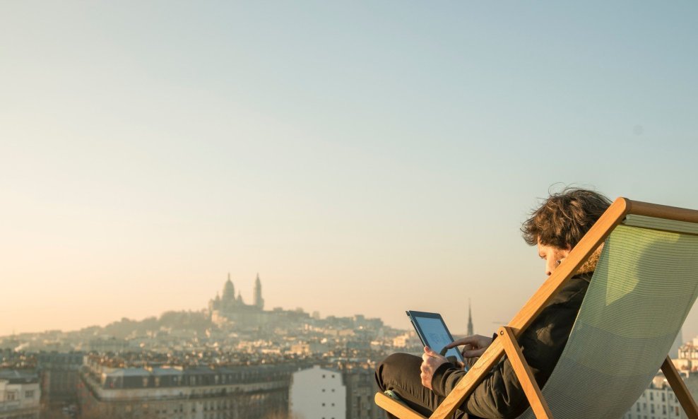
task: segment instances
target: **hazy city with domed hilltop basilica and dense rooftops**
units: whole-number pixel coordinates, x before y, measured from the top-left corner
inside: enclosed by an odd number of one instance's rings
[[[381,419],[376,363],[421,350],[381,319],[266,309],[259,275],[247,304],[228,275],[198,312],[0,337],[0,419]],[[670,356],[698,394],[698,338]],[[661,372],[625,415],[685,417]]]

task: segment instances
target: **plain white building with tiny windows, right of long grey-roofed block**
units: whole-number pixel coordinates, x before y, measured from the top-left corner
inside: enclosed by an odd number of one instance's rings
[[[345,419],[347,388],[342,373],[315,365],[293,373],[290,417],[294,419]]]

